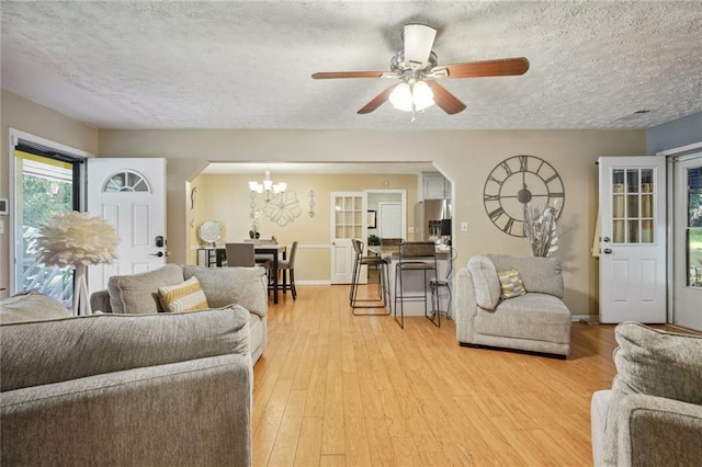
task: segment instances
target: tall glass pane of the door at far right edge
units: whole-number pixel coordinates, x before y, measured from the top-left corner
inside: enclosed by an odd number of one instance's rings
[[[688,286],[702,287],[702,167],[687,169]]]

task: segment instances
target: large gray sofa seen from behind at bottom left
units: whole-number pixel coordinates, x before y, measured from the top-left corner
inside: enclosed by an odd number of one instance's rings
[[[0,303],[7,466],[249,466],[249,312],[68,316]]]

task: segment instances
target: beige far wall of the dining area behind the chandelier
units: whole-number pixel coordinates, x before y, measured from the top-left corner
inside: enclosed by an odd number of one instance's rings
[[[261,180],[263,173],[251,175],[199,175],[191,187],[196,187],[192,227],[188,237],[191,246],[188,262],[196,262],[195,249],[201,246],[196,229],[203,220],[217,220],[223,226],[223,237],[217,242],[236,242],[249,238],[251,225],[249,180]],[[408,225],[412,225],[411,206],[417,200],[416,175],[276,175],[273,181],[287,182],[288,192],[295,192],[302,214],[294,221],[281,227],[269,219],[261,219],[259,230],[262,238],[275,236],[283,244],[298,241],[295,263],[295,280],[298,282],[329,282],[331,192],[358,192],[363,190],[406,190],[408,200]],[[309,213],[309,191],[314,190],[315,216]],[[259,202],[257,208],[261,209]]]

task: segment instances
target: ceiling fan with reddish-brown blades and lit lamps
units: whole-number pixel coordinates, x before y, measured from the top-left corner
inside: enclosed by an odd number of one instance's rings
[[[437,30],[426,24],[406,24],[404,29],[405,48],[390,59],[390,71],[327,71],[317,72],[313,79],[338,78],[395,78],[393,84],[361,107],[359,114],[367,114],[383,105],[385,101],[399,110],[412,113],[432,104],[439,105],[449,115],[465,110],[465,104],[438,79],[482,78],[524,75],[529,60],[524,57],[499,60],[466,61],[453,65],[438,65],[437,54],[431,49]]]

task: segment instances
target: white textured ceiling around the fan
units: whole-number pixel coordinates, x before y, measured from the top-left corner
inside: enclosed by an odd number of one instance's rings
[[[2,1],[1,84],[100,128],[646,128],[702,111],[700,1]],[[388,70],[400,31],[439,64],[529,58],[521,77],[443,80],[467,109],[410,123]],[[636,118],[621,117],[650,111]]]

